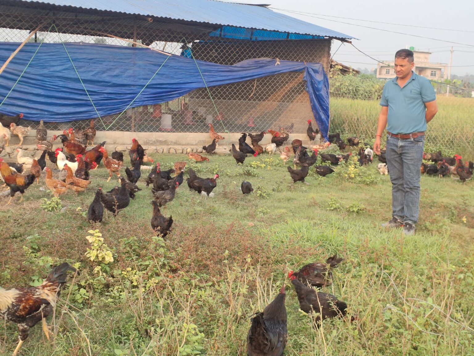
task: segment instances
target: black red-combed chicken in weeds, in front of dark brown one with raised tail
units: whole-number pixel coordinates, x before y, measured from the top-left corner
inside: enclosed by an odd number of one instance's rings
[[[300,309],[305,313],[313,311],[317,313],[315,318],[317,326],[321,320],[346,316],[345,302],[337,300],[332,294],[317,292],[301,283],[296,276],[292,276],[291,280],[300,302]]]

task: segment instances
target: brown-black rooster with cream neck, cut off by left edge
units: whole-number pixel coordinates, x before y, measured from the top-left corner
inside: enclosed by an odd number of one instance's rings
[[[33,328],[39,321],[49,340],[50,331],[46,325],[46,317],[52,315],[56,300],[61,294],[61,287],[66,283],[66,272],[77,270],[67,263],[61,263],[52,269],[43,283],[38,287],[0,289],[0,317],[18,324],[18,351]]]

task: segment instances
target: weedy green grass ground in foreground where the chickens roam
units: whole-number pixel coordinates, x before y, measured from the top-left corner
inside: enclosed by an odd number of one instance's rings
[[[162,169],[187,160],[154,158]],[[283,162],[267,155],[243,167],[218,156],[192,166],[201,177],[219,173],[215,197],[179,187],[163,209],[174,219],[163,241],[151,231],[144,171],[143,190],[128,208],[92,226],[106,244],[98,249],[112,252],[109,263],[85,255],[91,225],[84,212],[97,187],[117,184],[106,182],[102,166],[91,172],[87,192],[61,197],[58,211],[40,207],[50,198],[42,185],[30,187],[22,205],[1,200],[3,288],[36,285],[58,262],[81,271],[48,320],[53,341],[37,325],[22,355],[246,355],[250,316],[283,283],[285,355],[474,355],[474,182],[422,177],[417,234],[405,237],[380,227],[391,217],[391,185],[375,164],[357,181],[344,178],[347,168],[327,178],[310,172],[308,185],[293,184]],[[253,194],[241,194],[243,179]],[[359,320],[315,329],[286,275],[333,253],[345,261],[324,291]],[[7,323],[1,333],[0,354],[9,355],[17,327]]]

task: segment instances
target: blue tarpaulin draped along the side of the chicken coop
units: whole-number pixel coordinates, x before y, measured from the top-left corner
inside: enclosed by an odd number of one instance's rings
[[[0,63],[18,45],[0,42]],[[98,117],[97,113],[122,112],[132,101],[129,107],[164,103],[205,87],[204,81],[210,87],[304,71],[311,110],[321,134],[328,138],[329,84],[320,63],[280,60],[277,64],[275,59],[260,58],[224,66],[147,48],[84,43],[39,46],[27,43],[1,73],[1,113],[22,112],[24,119],[33,121],[85,120]]]

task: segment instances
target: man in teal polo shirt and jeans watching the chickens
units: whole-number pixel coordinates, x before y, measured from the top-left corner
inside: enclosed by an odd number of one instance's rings
[[[387,126],[385,157],[392,182],[392,219],[384,227],[401,227],[415,233],[419,211],[420,166],[423,159],[426,124],[438,112],[436,95],[428,79],[412,69],[413,52],[395,53],[395,74],[383,86],[374,151],[380,154],[380,141]]]

